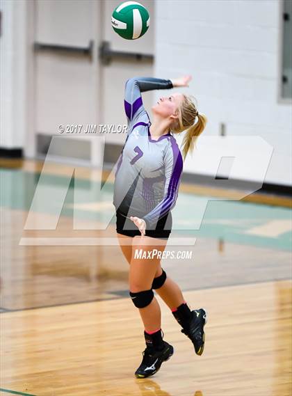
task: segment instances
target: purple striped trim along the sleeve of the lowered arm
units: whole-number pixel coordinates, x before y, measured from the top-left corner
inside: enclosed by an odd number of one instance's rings
[[[172,203],[175,202],[177,196],[177,185],[179,182],[179,177],[181,175],[181,169],[183,165],[181,153],[176,144],[175,138],[171,139],[172,152],[173,152],[173,167],[172,176],[170,178],[170,184],[168,185],[167,198],[164,198],[159,205],[157,205],[152,212],[145,216],[145,219],[153,219],[157,214],[159,217],[163,217],[172,207]]]

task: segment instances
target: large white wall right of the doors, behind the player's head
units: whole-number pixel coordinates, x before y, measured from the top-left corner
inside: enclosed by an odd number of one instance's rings
[[[280,12],[279,0],[157,0],[155,76],[192,74],[181,92],[208,116],[205,136],[218,136],[221,122],[227,136],[261,136],[274,148],[264,181],[291,185],[292,108],[278,99]],[[190,162],[184,171],[193,171]]]

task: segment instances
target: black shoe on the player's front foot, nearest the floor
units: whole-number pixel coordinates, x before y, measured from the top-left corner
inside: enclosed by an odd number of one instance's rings
[[[158,372],[161,364],[168,361],[170,356],[173,354],[172,345],[168,342],[163,341],[164,348],[162,351],[157,351],[153,348],[146,348],[143,351],[143,360],[138,369],[135,372],[136,378],[147,378]]]

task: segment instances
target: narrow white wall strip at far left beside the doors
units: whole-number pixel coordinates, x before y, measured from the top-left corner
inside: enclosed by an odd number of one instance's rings
[[[26,135],[26,2],[1,0],[1,148],[22,148]]]

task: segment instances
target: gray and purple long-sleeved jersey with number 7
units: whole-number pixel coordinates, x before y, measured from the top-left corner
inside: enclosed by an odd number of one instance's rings
[[[153,77],[127,80],[124,109],[127,138],[117,161],[113,205],[127,216],[145,220],[147,229],[175,206],[183,169],[181,152],[168,132],[154,140],[151,122],[143,106],[141,92],[172,88],[172,82]]]

